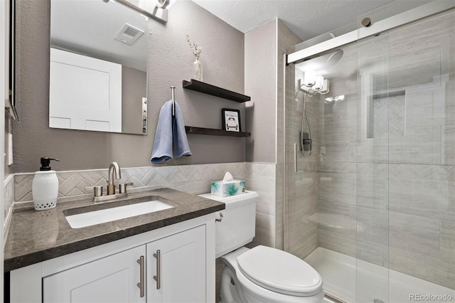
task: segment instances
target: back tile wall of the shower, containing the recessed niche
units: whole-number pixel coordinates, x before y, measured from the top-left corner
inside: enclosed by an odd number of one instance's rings
[[[455,13],[381,36],[344,54],[360,78],[385,54],[382,92],[405,95],[373,101],[367,121],[357,75],[331,79],[347,96],[321,105],[319,245],[455,289]]]

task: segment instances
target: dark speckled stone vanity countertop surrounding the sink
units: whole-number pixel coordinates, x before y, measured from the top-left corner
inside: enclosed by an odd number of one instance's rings
[[[65,214],[71,215],[112,207],[109,203],[132,200],[149,201],[149,196],[158,196],[173,208],[141,216],[114,220],[85,228],[71,228]],[[137,203],[137,202],[136,202]],[[117,205],[116,205],[117,206]],[[82,208],[81,208],[82,207]],[[78,208],[78,209],[74,209]],[[139,233],[145,233],[174,223],[220,211],[224,203],[183,193],[170,188],[129,193],[127,198],[92,202],[92,199],[58,202],[57,207],[47,211],[35,211],[33,206],[15,209],[11,218],[8,238],[4,249],[4,271],[68,255]]]

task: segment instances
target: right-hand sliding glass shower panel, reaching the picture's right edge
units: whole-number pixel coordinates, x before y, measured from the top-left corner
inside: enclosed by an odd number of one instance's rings
[[[357,302],[455,299],[454,33],[452,9],[358,41]]]

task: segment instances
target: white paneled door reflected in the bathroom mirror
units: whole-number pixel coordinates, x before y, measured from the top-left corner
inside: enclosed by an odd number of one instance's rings
[[[49,126],[122,132],[122,65],[50,49]]]

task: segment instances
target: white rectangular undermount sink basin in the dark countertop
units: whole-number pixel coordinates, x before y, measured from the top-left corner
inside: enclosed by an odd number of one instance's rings
[[[70,226],[72,228],[84,228],[87,226],[107,223],[114,220],[144,215],[146,213],[154,213],[155,211],[163,211],[164,209],[172,207],[173,206],[170,206],[167,203],[154,200],[129,204],[125,206],[105,208],[99,211],[77,213],[75,215],[66,216],[66,220],[68,220],[68,223],[70,223]]]

